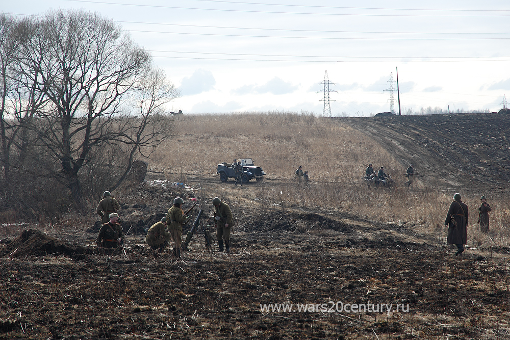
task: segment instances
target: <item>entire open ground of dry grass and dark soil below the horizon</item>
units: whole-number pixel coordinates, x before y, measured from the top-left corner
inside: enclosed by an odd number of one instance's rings
[[[130,229],[124,251],[93,251],[93,206],[85,216],[23,226],[36,231],[22,236],[4,226],[0,338],[510,339],[506,117],[488,117],[493,125],[463,118],[473,122],[180,116],[174,138],[146,160],[145,184],[113,193]],[[216,165],[234,158],[252,158],[267,176],[242,187],[221,182]],[[384,165],[396,188],[368,188],[361,179],[368,163]],[[412,188],[403,186],[409,163]],[[299,165],[310,184],[294,179]],[[445,244],[455,192],[470,209],[462,256]],[[488,234],[476,225],[482,194],[493,208]],[[149,250],[143,233],[133,232],[158,220],[176,196],[185,207],[199,197],[204,210],[180,259],[171,249]],[[236,218],[230,253],[203,242],[215,196]],[[286,303],[293,310],[269,307]],[[307,310],[294,311],[297,304]],[[390,311],[381,309],[386,304]]]

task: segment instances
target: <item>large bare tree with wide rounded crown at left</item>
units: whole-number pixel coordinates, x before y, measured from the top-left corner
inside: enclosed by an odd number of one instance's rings
[[[79,171],[91,161],[90,151],[103,143],[129,148],[127,173],[137,152],[167,136],[168,120],[157,117],[178,93],[152,70],[143,48],[97,14],[50,11],[31,32],[22,40],[19,72],[47,101],[39,101],[44,104],[29,126],[35,146],[60,164],[60,170],[52,173],[49,167],[40,175],[64,184],[82,209]],[[133,102],[136,114],[126,104]]]

